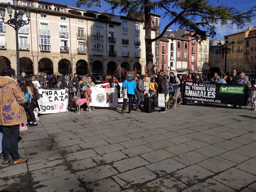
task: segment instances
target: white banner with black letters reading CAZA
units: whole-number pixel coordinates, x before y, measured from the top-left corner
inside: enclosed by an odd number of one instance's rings
[[[68,92],[61,90],[38,89],[41,98],[37,100],[39,114],[66,112],[68,108]]]

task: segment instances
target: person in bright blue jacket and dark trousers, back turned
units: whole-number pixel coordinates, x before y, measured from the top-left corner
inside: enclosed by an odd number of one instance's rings
[[[122,89],[127,89],[127,97],[129,99],[129,111],[128,113],[131,113],[132,110],[132,97],[135,95],[135,89],[136,89],[136,83],[134,80],[132,80],[132,75],[128,74],[127,79],[124,81]],[[127,103],[127,99],[124,99],[123,107],[121,113],[124,113],[125,110],[125,104]]]

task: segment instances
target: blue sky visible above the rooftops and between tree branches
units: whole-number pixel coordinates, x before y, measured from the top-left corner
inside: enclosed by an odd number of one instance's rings
[[[69,5],[69,6],[75,6],[76,0],[44,0],[44,1],[48,1],[48,2],[52,2],[52,3],[59,3],[59,4],[65,4],[65,5]],[[250,0],[210,0],[211,4],[213,5],[227,5],[229,7],[234,7],[239,11],[247,11],[249,9],[252,9],[253,6],[256,5],[255,1],[250,1]],[[86,7],[81,7],[82,9],[86,9]],[[110,9],[110,6],[108,4],[106,4],[104,1],[102,1],[102,8],[99,7],[92,7],[88,10],[95,10],[95,11],[102,11],[104,12],[105,10]],[[111,12],[110,10],[108,10],[108,12]],[[116,10],[115,14],[119,15],[118,13],[119,11]],[[163,10],[156,10],[155,11],[156,14],[162,14]],[[161,22],[161,31],[164,29],[164,26],[166,26],[166,24],[168,24],[168,19],[165,18],[161,18],[160,20]],[[247,29],[247,27],[249,26],[256,26],[256,17],[252,18],[252,23],[248,23],[243,29]],[[171,30],[176,30],[178,29],[178,26],[173,25],[170,27]],[[239,31],[243,30],[240,29]],[[224,35],[227,34],[232,34],[232,33],[236,33],[237,29],[236,26],[233,27],[233,29],[229,28],[229,27],[225,27],[225,26],[221,26],[220,24],[216,25],[216,36],[214,37],[214,39],[218,39],[220,36],[220,39],[224,39]],[[211,37],[210,37],[211,39]]]

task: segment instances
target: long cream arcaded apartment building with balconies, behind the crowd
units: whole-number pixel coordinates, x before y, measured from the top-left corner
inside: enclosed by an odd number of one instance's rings
[[[0,6],[6,7],[5,0]],[[74,72],[112,75],[118,65],[127,70],[145,69],[145,30],[135,18],[114,16],[39,0],[19,1],[29,7],[31,20],[19,30],[21,72],[47,74]],[[5,21],[8,20],[6,11]],[[160,24],[159,24],[160,25]],[[155,33],[152,33],[155,37]],[[16,69],[15,31],[0,22],[0,55]],[[153,43],[154,48],[155,44]],[[153,51],[153,54],[155,52]]]

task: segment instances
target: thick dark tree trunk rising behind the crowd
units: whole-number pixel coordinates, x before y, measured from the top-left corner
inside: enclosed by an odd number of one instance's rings
[[[145,17],[145,48],[146,48],[146,66],[148,71],[148,76],[152,77],[155,73],[154,70],[154,61],[152,53],[152,42],[151,42],[151,17],[150,17],[150,8],[147,6],[149,0],[144,1],[144,17]]]

